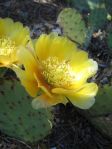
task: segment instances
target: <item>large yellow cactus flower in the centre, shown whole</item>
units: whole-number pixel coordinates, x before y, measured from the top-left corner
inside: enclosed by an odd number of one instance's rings
[[[88,109],[95,102],[98,87],[87,79],[95,75],[98,65],[66,37],[42,34],[34,43],[34,52],[22,49],[18,58],[24,70],[14,70],[28,93],[35,97],[34,108],[69,100]]]

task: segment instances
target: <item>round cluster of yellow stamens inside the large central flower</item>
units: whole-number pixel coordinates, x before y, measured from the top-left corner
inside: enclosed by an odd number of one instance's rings
[[[73,84],[75,76],[69,62],[60,62],[57,57],[49,57],[42,61],[42,67],[42,74],[49,84],[63,88]]]

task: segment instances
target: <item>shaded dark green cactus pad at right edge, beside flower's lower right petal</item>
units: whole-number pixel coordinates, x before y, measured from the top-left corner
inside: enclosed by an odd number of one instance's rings
[[[112,86],[105,85],[99,89],[96,102],[89,112],[94,117],[112,113]]]

